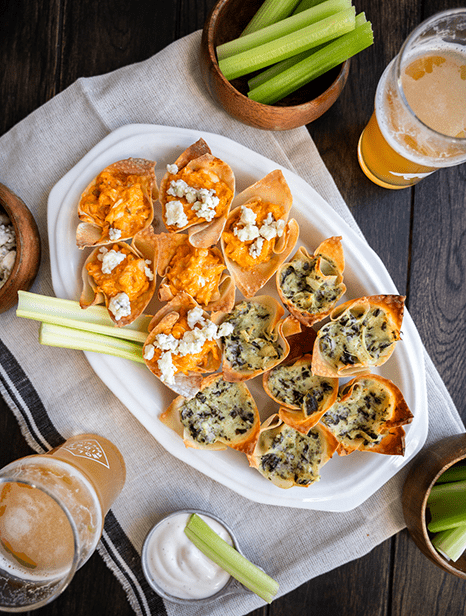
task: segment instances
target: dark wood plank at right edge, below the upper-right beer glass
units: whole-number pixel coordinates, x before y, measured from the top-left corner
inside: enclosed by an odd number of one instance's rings
[[[416,188],[410,297],[426,348],[466,418],[466,170],[442,169]]]

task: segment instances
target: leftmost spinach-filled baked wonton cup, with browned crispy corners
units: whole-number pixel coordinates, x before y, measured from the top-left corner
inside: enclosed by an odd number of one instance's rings
[[[252,451],[260,429],[259,412],[247,386],[216,374],[203,380],[193,398],[175,398],[160,421],[186,447],[216,451],[231,447],[246,454]]]

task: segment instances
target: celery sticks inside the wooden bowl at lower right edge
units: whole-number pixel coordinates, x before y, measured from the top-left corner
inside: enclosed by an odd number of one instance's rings
[[[436,533],[433,546],[448,560],[457,561],[466,550],[466,463],[458,463],[441,475],[427,499]]]

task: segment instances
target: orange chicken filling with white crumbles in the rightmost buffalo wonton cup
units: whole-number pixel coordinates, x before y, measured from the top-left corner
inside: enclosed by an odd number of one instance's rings
[[[224,252],[243,269],[269,260],[285,228],[285,208],[258,199],[238,208],[222,235]]]

